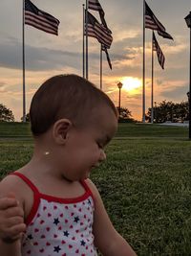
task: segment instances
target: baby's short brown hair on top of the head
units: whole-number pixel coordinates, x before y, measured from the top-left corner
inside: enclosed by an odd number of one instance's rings
[[[71,120],[76,127],[82,126],[93,110],[104,105],[111,107],[117,117],[116,106],[92,82],[73,74],[54,76],[45,81],[32,98],[32,134],[43,134],[61,118]]]

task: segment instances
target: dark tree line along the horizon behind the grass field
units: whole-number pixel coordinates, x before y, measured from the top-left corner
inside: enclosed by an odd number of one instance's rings
[[[164,123],[171,122],[184,122],[189,120],[189,105],[188,102],[173,103],[166,100],[154,105],[154,122]],[[118,121],[119,122],[135,122],[132,118],[132,112],[127,107],[117,107]],[[151,107],[148,108],[146,113],[146,121],[151,121]],[[22,121],[22,117],[21,117]],[[27,121],[30,121],[29,113],[27,114]],[[14,122],[14,115],[10,108],[6,105],[0,104],[0,122]]]

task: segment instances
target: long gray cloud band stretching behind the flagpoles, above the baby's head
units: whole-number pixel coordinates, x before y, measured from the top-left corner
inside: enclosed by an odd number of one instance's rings
[[[22,43],[15,38],[10,37],[0,42],[0,66],[12,69],[22,68]],[[110,50],[108,50],[110,53]],[[124,51],[123,51],[124,52]],[[113,60],[131,59],[131,49],[127,53],[110,53]],[[103,53],[104,55],[104,53]],[[69,52],[62,50],[53,50],[46,47],[33,47],[25,45],[26,69],[31,71],[43,71],[64,66],[73,68],[81,68],[82,54],[77,52]],[[99,54],[90,53],[90,59],[99,59]]]

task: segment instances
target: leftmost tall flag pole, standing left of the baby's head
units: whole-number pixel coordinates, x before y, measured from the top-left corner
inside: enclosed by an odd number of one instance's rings
[[[23,0],[23,122],[26,122],[26,96],[25,96],[25,0]]]

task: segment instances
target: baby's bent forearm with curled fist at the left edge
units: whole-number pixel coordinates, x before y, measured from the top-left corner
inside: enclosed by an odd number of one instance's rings
[[[20,240],[26,229],[24,212],[16,191],[18,199],[10,194],[10,188],[14,191],[11,178],[0,182],[0,252],[1,256],[21,256]]]

